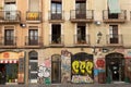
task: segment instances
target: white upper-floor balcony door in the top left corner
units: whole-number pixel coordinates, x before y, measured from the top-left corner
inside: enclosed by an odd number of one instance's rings
[[[9,0],[10,1],[10,0]],[[4,2],[4,20],[16,20],[16,4],[15,0]]]

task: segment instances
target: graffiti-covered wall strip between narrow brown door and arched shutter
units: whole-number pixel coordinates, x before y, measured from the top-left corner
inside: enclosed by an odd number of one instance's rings
[[[68,50],[61,51],[61,75],[62,75],[62,83],[70,82],[70,74],[71,71],[71,53]]]

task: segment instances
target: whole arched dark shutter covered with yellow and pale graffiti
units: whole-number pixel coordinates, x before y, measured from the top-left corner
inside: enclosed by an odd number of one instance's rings
[[[72,83],[93,83],[93,55],[84,52],[76,53],[71,59]]]

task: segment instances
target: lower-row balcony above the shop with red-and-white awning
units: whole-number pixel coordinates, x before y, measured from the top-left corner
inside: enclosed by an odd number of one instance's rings
[[[0,48],[14,48],[16,47],[16,37],[0,37]]]

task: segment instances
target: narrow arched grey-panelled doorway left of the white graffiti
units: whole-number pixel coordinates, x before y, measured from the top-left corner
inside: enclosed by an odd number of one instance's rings
[[[31,51],[28,53],[29,58],[29,82],[37,83],[37,66],[38,66],[38,53],[36,51]]]

